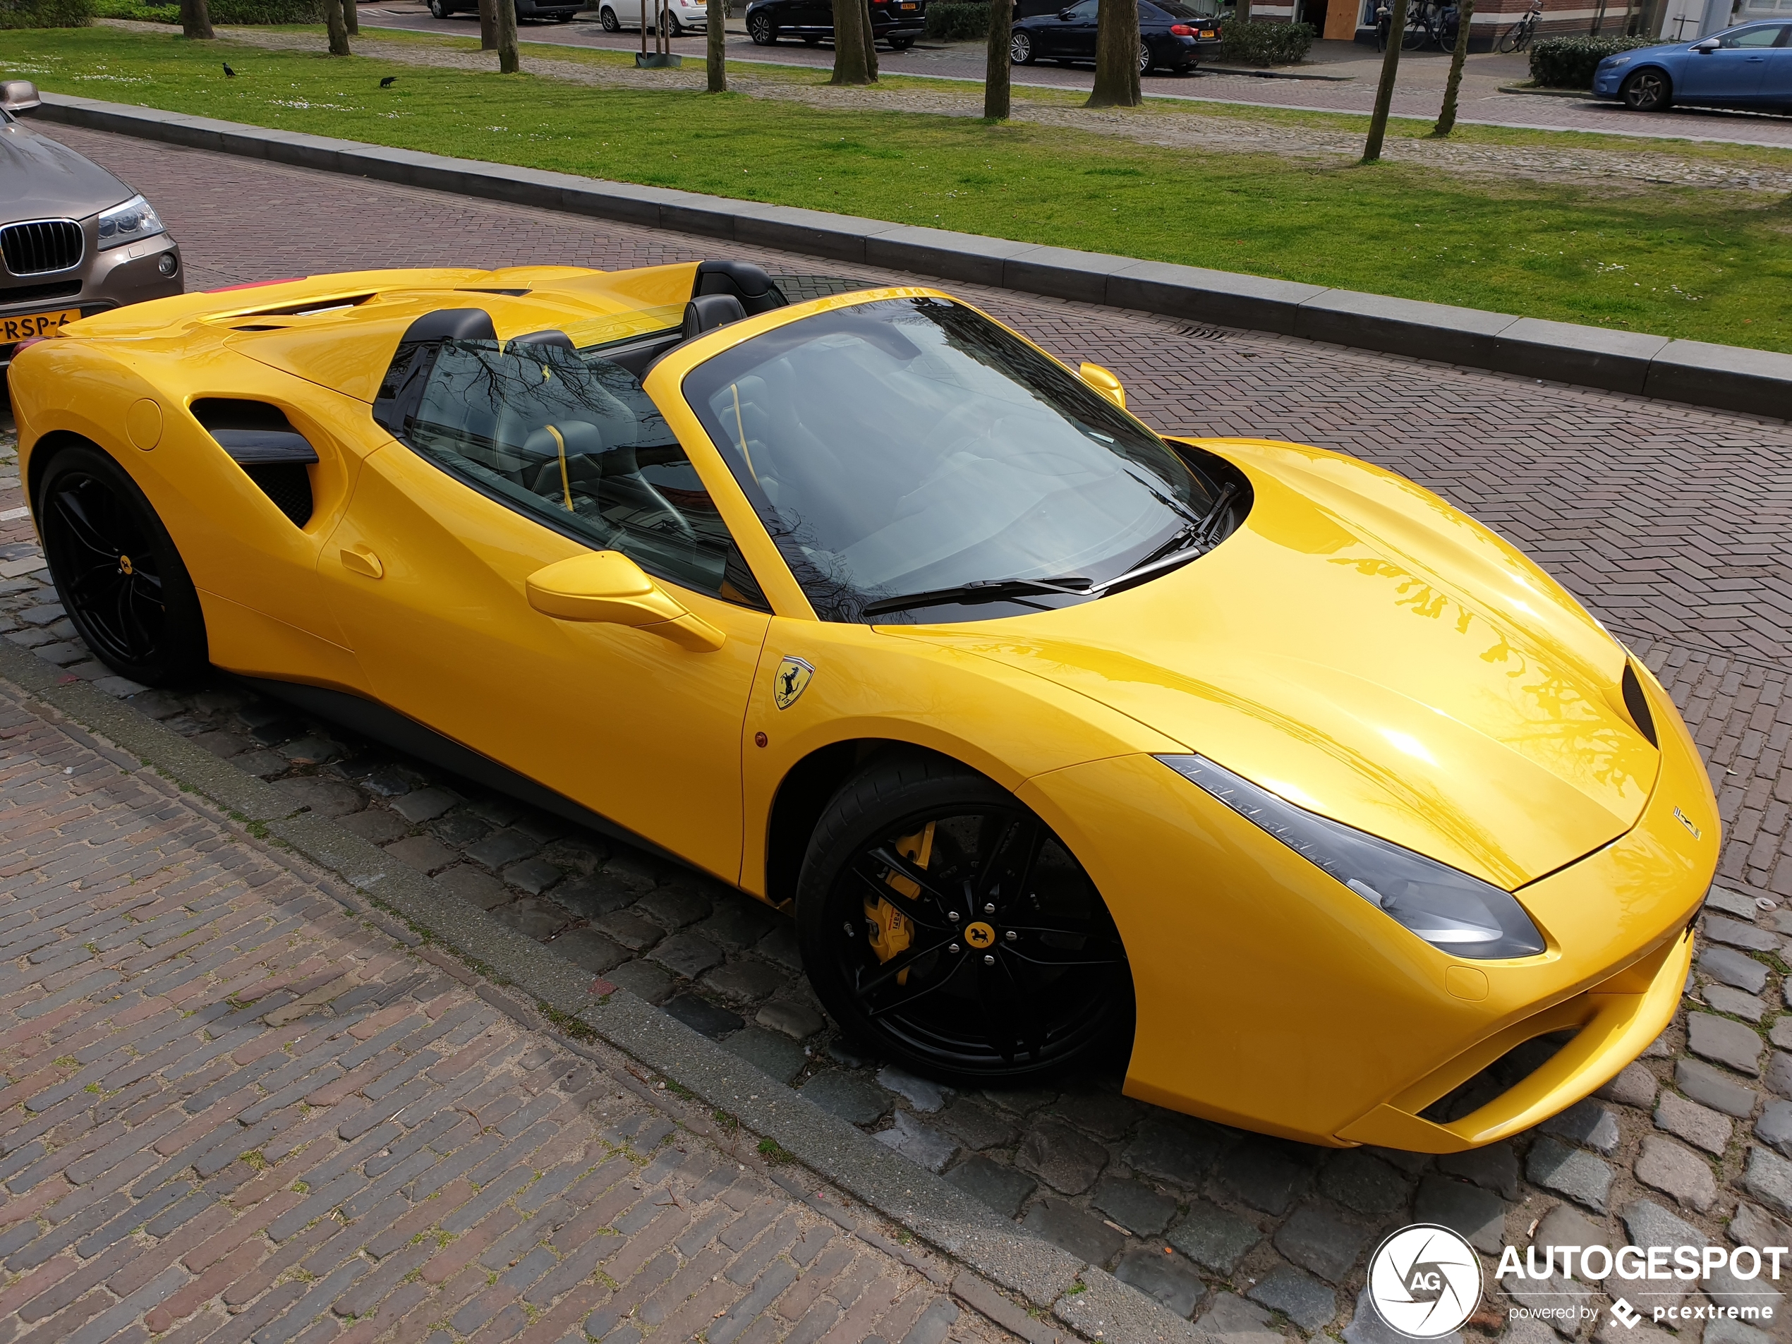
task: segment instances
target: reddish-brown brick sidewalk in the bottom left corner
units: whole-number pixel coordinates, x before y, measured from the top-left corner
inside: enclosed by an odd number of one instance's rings
[[[0,828],[0,1339],[1012,1339],[4,685]]]

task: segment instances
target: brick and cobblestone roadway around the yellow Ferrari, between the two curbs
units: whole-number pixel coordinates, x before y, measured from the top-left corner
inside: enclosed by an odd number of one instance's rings
[[[186,247],[195,287],[357,265],[618,267],[724,253],[780,272],[837,271],[788,254],[104,134],[57,129],[57,136],[118,167],[156,199]],[[1523,545],[1663,674],[1719,781],[1729,831],[1724,878],[1740,894],[1722,896],[1727,914],[1708,921],[1708,952],[1683,1016],[1600,1100],[1552,1122],[1548,1133],[1434,1161],[1321,1152],[1190,1124],[1115,1095],[1115,1081],[1102,1077],[1048,1091],[953,1097],[880,1070],[833,1039],[797,975],[788,928],[733,892],[570,833],[240,688],[134,702],[276,780],[296,805],[398,846],[394,857],[412,855],[550,950],[607,968],[900,1152],[944,1170],[1039,1235],[1113,1265],[1219,1333],[1271,1344],[1276,1333],[1339,1330],[1353,1319],[1364,1254],[1385,1229],[1414,1217],[1462,1226],[1486,1251],[1545,1235],[1573,1240],[1584,1235],[1573,1219],[1607,1240],[1643,1236],[1636,1229],[1667,1226],[1663,1217],[1719,1240],[1792,1236],[1772,1220],[1792,1220],[1792,1168],[1781,1165],[1781,1154],[1792,1156],[1792,1020],[1778,1016],[1787,1002],[1781,977],[1792,966],[1785,943],[1792,909],[1779,905],[1792,891],[1792,788],[1781,783],[1792,738],[1792,711],[1781,704],[1792,625],[1778,545],[1792,430],[1262,333],[953,289],[1068,360],[1115,367],[1131,403],[1167,432],[1312,441],[1425,482]],[[20,498],[7,484],[0,475],[0,520]],[[0,595],[11,613],[0,615],[7,638],[102,688],[131,692],[68,638],[54,593],[36,581],[27,525],[0,527],[9,529],[0,530],[0,577],[16,575],[0,584],[9,590]],[[1711,1023],[1738,1027],[1745,1038]],[[1487,1317],[1487,1324],[1496,1322]],[[1371,1340],[1353,1330],[1346,1337]],[[1514,1340],[1525,1340],[1523,1331]],[[1600,1344],[1609,1344],[1609,1328]],[[1706,1344],[1760,1340],[1731,1330]]]

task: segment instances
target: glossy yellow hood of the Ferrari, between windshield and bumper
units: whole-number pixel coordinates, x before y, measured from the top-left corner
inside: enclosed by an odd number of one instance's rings
[[[1624,649],[1561,586],[1357,459],[1197,443],[1256,496],[1211,554],[1097,602],[903,633],[1073,688],[1507,891],[1636,823],[1659,756],[1624,708]]]

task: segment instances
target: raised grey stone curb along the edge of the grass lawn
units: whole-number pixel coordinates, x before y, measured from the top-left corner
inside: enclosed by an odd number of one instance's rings
[[[1792,355],[1041,247],[564,172],[382,149],[72,95],[45,120],[625,224],[1326,340],[1719,410],[1792,416]]]

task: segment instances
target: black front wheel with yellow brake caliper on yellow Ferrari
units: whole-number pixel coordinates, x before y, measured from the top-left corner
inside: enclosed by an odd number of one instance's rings
[[[932,1077],[1018,1086],[1131,1047],[1133,978],[1095,883],[1012,794],[943,758],[892,754],[835,796],[797,937],[835,1021]]]

